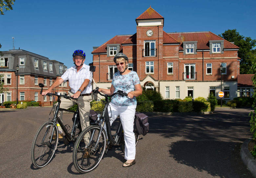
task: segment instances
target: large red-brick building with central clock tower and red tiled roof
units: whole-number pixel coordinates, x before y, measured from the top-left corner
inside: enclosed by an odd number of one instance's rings
[[[221,81],[224,99],[237,97],[238,46],[210,31],[167,33],[164,18],[151,7],[136,23],[137,33],[117,35],[93,47],[97,86],[111,86],[117,72],[113,57],[123,52],[129,69],[138,73],[142,89],[159,91],[166,99],[207,98],[209,93],[219,98]]]

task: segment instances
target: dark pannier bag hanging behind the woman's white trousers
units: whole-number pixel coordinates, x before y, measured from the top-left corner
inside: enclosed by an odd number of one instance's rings
[[[143,136],[145,136],[149,130],[148,116],[143,113],[136,112],[135,117],[136,117],[136,132],[138,134],[142,134]]]

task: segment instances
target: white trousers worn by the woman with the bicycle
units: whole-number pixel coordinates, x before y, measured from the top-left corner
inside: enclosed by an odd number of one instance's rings
[[[136,105],[120,106],[110,103],[108,107],[109,117],[113,117],[113,120],[110,120],[110,124],[112,124],[117,119],[117,117],[120,116],[124,132],[124,159],[126,160],[135,159],[136,148],[135,135],[133,132],[135,111]],[[106,131],[106,124],[104,124],[104,129]]]

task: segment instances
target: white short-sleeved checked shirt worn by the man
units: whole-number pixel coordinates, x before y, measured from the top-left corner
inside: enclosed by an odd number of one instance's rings
[[[83,64],[82,68],[77,72],[75,66],[69,68],[61,78],[66,82],[69,80],[69,86],[71,92],[75,93],[83,84],[85,79],[89,79],[89,84],[83,90],[81,94],[91,93],[92,92],[92,76],[93,73],[90,72],[90,66]]]

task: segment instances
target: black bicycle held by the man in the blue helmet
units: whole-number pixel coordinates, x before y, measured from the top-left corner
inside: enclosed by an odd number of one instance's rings
[[[39,87],[41,87],[40,93],[42,94],[44,85],[42,83],[39,83]],[[74,98],[67,95],[62,95],[60,93],[55,93],[55,94],[48,93],[47,95],[57,96],[58,97],[57,105],[56,106],[53,105],[53,109],[52,109],[52,111],[54,112],[53,119],[51,120],[51,117],[49,117],[49,121],[46,121],[39,127],[33,139],[32,149],[31,149],[31,158],[32,158],[32,163],[36,168],[42,168],[46,166],[53,158],[53,155],[58,145],[57,122],[60,124],[62,130],[65,133],[65,136],[63,136],[64,144],[68,144],[71,141],[75,142],[79,133],[81,133],[82,131],[78,107],[76,111],[60,108],[61,97],[66,99],[74,99]],[[74,113],[73,115],[74,124],[71,132],[69,132],[70,126],[68,124],[64,125],[63,122],[58,117],[58,112],[60,110]]]

